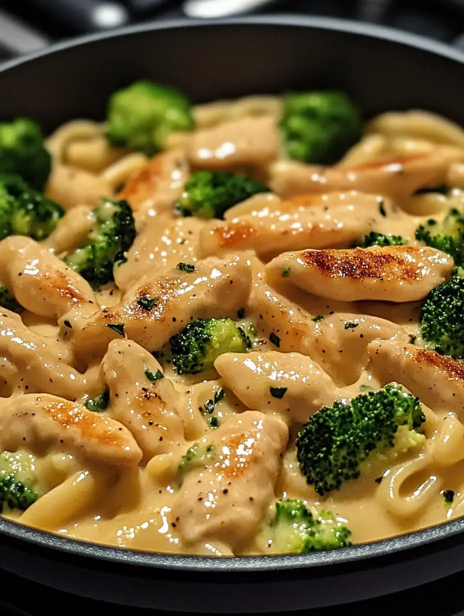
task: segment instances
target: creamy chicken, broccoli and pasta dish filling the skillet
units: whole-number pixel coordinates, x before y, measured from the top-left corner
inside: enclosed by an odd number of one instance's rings
[[[336,91],[0,124],[0,513],[233,556],[464,514],[464,130]]]

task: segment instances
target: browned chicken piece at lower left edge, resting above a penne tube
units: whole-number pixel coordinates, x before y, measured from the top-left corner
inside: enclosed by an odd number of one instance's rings
[[[54,395],[25,394],[0,405],[0,451],[67,451],[95,463],[134,465],[142,452],[118,421]]]

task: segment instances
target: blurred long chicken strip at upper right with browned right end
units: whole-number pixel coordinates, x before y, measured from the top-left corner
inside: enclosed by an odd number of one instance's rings
[[[278,161],[269,168],[269,186],[284,198],[305,192],[359,190],[401,201],[418,188],[444,184],[450,164],[461,158],[455,148],[436,148],[354,167]]]

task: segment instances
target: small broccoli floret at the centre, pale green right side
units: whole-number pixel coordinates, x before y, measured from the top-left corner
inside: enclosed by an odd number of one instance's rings
[[[209,370],[222,353],[245,353],[251,347],[245,331],[230,318],[198,318],[169,342],[180,375]]]

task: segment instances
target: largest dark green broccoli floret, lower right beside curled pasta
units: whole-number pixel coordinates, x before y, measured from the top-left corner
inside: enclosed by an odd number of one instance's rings
[[[417,432],[425,421],[418,398],[396,383],[351,404],[334,402],[314,413],[298,432],[297,458],[306,482],[320,495],[357,479],[374,458],[393,458],[425,442]]]

